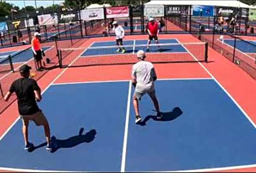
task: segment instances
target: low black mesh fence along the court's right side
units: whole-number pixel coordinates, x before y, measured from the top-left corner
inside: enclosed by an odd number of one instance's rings
[[[256,79],[256,42],[244,36],[213,32],[193,34]]]

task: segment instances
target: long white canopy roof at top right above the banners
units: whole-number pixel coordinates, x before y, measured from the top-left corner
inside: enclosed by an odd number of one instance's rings
[[[205,5],[251,8],[251,6],[238,0],[151,0],[144,5]]]

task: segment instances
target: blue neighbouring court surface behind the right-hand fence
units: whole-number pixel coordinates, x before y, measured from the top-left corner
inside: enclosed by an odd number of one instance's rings
[[[229,46],[235,46],[234,39],[224,39],[224,43]],[[240,50],[243,53],[256,53],[256,41],[246,40],[246,42],[242,40],[236,40],[236,49]]]

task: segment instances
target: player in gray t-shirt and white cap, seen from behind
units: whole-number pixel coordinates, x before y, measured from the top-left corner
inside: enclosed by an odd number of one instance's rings
[[[162,118],[159,110],[158,99],[155,95],[154,82],[157,80],[157,75],[154,65],[151,62],[145,61],[146,55],[143,50],[138,51],[137,58],[139,62],[132,66],[132,85],[135,87],[133,95],[133,106],[135,109],[136,119],[135,123],[141,121],[139,114],[138,101],[144,94],[148,94],[154,103],[154,107],[158,112],[157,118]]]

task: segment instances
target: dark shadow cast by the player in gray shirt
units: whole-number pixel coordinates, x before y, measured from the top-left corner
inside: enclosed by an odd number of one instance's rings
[[[143,121],[141,121],[140,123],[138,123],[141,126],[146,126],[147,122],[152,119],[154,121],[173,121],[176,118],[178,118],[179,116],[181,116],[181,114],[183,114],[183,112],[181,111],[181,108],[174,108],[171,112],[162,112],[162,118],[161,119],[157,119],[157,116],[155,115],[148,115]]]

